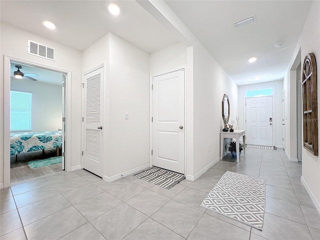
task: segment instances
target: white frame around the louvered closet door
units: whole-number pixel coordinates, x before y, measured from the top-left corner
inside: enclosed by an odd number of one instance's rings
[[[87,71],[85,71],[85,72],[83,72],[82,73],[82,79],[81,79],[81,84],[82,84],[82,88],[81,88],[81,118],[83,117],[83,113],[84,113],[84,104],[83,104],[83,98],[84,98],[84,75],[86,75],[86,74],[88,74],[88,73],[90,73],[90,72],[92,72],[92,71],[95,71],[95,70],[97,70],[97,69],[99,69],[99,68],[103,68],[104,69],[104,86],[103,86],[103,91],[104,91],[104,96],[103,96],[103,105],[104,105],[104,115],[103,115],[103,124],[101,124],[101,125],[103,125],[103,128],[104,128],[104,134],[103,134],[103,143],[105,144],[105,142],[106,142],[106,138],[105,138],[105,136],[106,136],[106,133],[107,133],[107,129],[108,129],[108,126],[107,126],[107,124],[106,124],[106,112],[107,112],[107,105],[106,105],[106,103],[105,103],[105,99],[106,99],[106,89],[107,89],[107,87],[106,87],[106,85],[107,85],[107,81],[106,81],[106,67],[105,67],[105,62],[103,62],[103,63],[101,63],[101,64],[99,64],[99,65],[97,65],[97,66],[95,66],[95,67],[93,67],[93,68],[91,68],[91,69],[89,69],[89,70],[87,70]],[[83,151],[83,137],[84,137],[84,122],[82,121],[82,119],[81,119],[81,152]],[[103,147],[103,156],[104,156],[104,159],[102,159],[103,160],[103,172],[102,172],[102,179],[104,179],[104,177],[105,177],[105,172],[104,172],[104,169],[105,169],[105,159],[106,159],[106,155],[105,155],[105,153],[106,153],[106,150],[105,150],[105,147]],[[83,155],[81,154],[81,162],[80,162],[80,164],[81,164],[81,169],[83,169]]]

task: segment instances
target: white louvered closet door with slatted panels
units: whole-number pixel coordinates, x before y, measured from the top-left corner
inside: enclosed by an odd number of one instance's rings
[[[82,166],[103,176],[104,67],[83,76]]]

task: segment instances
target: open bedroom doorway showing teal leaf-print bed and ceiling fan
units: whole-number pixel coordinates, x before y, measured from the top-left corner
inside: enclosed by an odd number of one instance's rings
[[[65,169],[69,73],[8,57],[4,63],[5,187]],[[17,70],[22,77],[14,77]]]

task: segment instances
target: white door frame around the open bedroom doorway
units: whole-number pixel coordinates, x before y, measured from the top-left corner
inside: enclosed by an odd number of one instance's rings
[[[11,56],[4,55],[3,57],[3,97],[4,99],[10,99],[10,62],[17,61],[22,64],[32,65],[35,67],[41,67],[52,71],[57,71],[65,74],[65,149],[71,149],[71,122],[67,119],[71,119],[71,80],[72,72],[65,69],[52,67],[50,65],[39,64]],[[62,119],[61,119],[62,121]],[[3,102],[3,187],[10,186],[10,102]],[[71,170],[71,151],[66,150],[64,155],[65,171]]]

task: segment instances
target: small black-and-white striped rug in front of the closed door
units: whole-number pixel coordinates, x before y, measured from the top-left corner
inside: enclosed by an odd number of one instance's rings
[[[135,173],[133,176],[157,184],[166,189],[170,189],[185,178],[182,174],[170,172],[157,167],[148,168]]]

